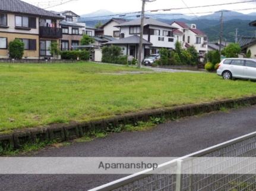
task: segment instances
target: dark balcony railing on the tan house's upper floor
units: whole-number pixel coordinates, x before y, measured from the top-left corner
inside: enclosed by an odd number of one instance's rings
[[[62,29],[53,27],[40,27],[40,38],[62,38]]]

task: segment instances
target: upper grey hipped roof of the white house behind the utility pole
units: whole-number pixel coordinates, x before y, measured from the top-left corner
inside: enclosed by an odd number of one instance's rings
[[[126,26],[134,26],[134,25],[139,26],[140,24],[141,24],[141,19],[137,19],[137,20],[123,22],[123,23],[117,25],[116,27],[126,27]],[[153,18],[146,18],[144,20],[144,25],[154,25],[154,26],[166,27],[166,28],[176,28],[176,27],[172,27],[169,24],[166,24],[165,22],[154,20]]]

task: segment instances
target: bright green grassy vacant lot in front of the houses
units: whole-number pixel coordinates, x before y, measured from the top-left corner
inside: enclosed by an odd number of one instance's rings
[[[256,94],[254,82],[210,73],[121,73],[132,70],[94,63],[0,64],[0,132]]]

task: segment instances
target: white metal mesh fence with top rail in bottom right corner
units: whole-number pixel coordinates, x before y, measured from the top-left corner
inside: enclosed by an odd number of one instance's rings
[[[256,174],[182,174],[193,167],[216,168],[207,166],[207,161],[192,163],[191,157],[255,157],[256,132],[227,141],[222,144],[177,158],[159,166],[157,170],[145,170],[114,182],[96,187],[90,191],[131,191],[131,190],[256,190]],[[239,165],[239,164],[238,164]],[[251,165],[251,166],[250,166]],[[256,170],[256,164],[248,164]],[[244,167],[244,166],[243,166]],[[239,169],[239,168],[238,168]],[[152,174],[150,174],[152,172]],[[165,174],[166,172],[166,174]],[[176,172],[176,174],[171,174]]]

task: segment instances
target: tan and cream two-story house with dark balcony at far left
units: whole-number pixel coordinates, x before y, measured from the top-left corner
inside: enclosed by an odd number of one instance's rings
[[[0,58],[8,59],[8,44],[15,38],[24,43],[25,59],[51,57],[52,41],[62,37],[62,17],[20,0],[0,1]]]

